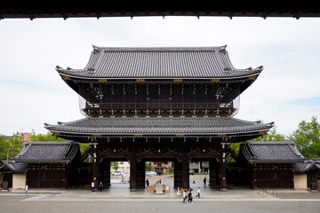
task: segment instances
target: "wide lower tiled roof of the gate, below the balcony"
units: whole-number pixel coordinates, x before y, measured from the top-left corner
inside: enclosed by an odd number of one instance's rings
[[[269,130],[273,123],[247,122],[232,117],[90,117],[75,122],[45,123],[51,131],[65,133],[132,134],[220,134]]]

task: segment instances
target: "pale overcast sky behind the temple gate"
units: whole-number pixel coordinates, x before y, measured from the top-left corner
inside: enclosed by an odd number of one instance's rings
[[[44,122],[84,118],[55,66],[83,68],[92,44],[220,46],[236,68],[259,67],[236,118],[275,122],[288,135],[320,115],[320,19],[141,17],[0,20],[0,134],[46,133]]]

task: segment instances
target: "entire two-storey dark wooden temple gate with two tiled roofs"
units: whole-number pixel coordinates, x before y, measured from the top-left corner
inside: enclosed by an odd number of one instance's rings
[[[84,69],[57,72],[82,98],[86,118],[45,123],[60,138],[91,146],[92,181],[110,185],[110,162],[129,161],[130,188],[145,187],[145,162],[173,162],[174,187],[189,187],[189,162],[209,162],[209,185],[227,191],[229,146],[273,123],[235,119],[236,98],[262,67],[237,69],[226,46],[93,46]]]

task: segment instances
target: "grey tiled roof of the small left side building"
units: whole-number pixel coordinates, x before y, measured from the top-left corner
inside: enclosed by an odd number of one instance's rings
[[[26,142],[15,162],[71,162],[80,152],[76,142]]]

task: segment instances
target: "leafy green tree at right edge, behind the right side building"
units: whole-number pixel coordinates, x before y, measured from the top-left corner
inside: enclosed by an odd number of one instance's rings
[[[300,153],[309,159],[320,157],[320,123],[316,116],[311,117],[311,122],[302,121],[298,130],[289,136],[290,140],[300,150]]]

